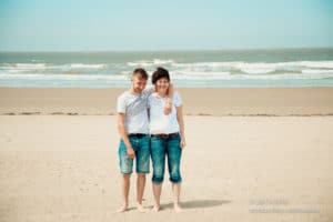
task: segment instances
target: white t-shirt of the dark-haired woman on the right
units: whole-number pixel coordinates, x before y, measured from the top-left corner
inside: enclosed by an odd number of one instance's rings
[[[154,92],[148,98],[148,108],[150,109],[150,133],[174,133],[179,132],[179,123],[176,120],[176,107],[182,104],[181,97],[178,92],[173,93],[172,109],[170,114],[164,114],[164,107],[168,98],[159,98]]]

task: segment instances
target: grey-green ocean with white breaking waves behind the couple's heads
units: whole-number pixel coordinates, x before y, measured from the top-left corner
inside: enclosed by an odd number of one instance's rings
[[[128,88],[139,67],[176,88],[333,87],[333,49],[0,52],[0,87]]]

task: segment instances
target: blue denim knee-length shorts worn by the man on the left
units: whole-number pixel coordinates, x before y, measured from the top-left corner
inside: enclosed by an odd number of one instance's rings
[[[149,173],[150,163],[150,137],[149,135],[129,135],[132,148],[135,152],[137,173]],[[128,150],[122,140],[120,140],[119,149],[120,172],[131,174],[133,169],[133,159],[128,157]]]

